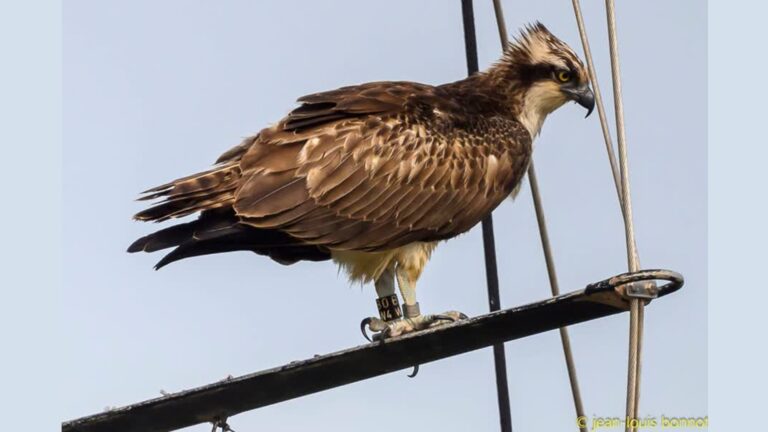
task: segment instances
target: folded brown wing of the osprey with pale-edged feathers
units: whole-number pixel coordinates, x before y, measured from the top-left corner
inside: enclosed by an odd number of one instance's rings
[[[440,89],[371,83],[300,99],[250,143],[234,209],[244,223],[331,249],[381,250],[460,234],[520,181],[531,138],[468,118]]]

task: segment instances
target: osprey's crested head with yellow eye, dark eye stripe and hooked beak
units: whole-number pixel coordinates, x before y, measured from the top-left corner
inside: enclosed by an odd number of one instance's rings
[[[536,135],[546,116],[568,101],[595,106],[589,75],[573,50],[541,23],[527,26],[511,41],[489,74],[509,90],[515,115]]]

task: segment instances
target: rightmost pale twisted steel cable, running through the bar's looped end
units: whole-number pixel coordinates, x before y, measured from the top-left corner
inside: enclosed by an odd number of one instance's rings
[[[640,267],[635,231],[632,223],[632,199],[629,192],[629,160],[627,156],[626,132],[624,129],[624,106],[621,99],[621,69],[619,66],[619,47],[616,38],[616,10],[613,0],[605,0],[608,21],[608,45],[611,53],[611,75],[613,78],[613,102],[616,115],[616,136],[619,145],[619,166],[621,168],[621,196],[624,215],[624,232],[627,243],[627,265],[629,271]],[[643,300],[630,300],[629,321],[629,365],[627,371],[627,424],[626,431],[637,430],[631,420],[637,418],[640,402],[640,350],[643,336]]]

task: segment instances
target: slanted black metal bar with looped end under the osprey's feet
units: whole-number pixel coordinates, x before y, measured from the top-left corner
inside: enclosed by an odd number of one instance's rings
[[[683,278],[665,270],[620,275],[585,289],[489,313],[383,342],[180,391],[79,418],[62,432],[168,431],[217,422],[235,414],[306,396],[389,372],[463,354],[628,308],[617,287],[628,280],[666,280],[658,296],[678,290]]]

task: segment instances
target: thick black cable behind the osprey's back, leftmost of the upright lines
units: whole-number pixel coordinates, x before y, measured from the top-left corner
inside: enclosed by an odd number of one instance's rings
[[[461,0],[461,14],[464,23],[464,48],[467,57],[467,73],[477,73],[477,38],[475,36],[475,13],[472,0]],[[488,215],[482,221],[483,251],[485,255],[485,275],[488,285],[488,306],[497,311],[501,308],[499,295],[499,274],[496,265],[496,244],[493,235],[493,217]],[[507,380],[507,359],[504,344],[493,345],[493,361],[496,370],[496,395],[499,405],[499,423],[501,432],[512,432],[512,413]]]

